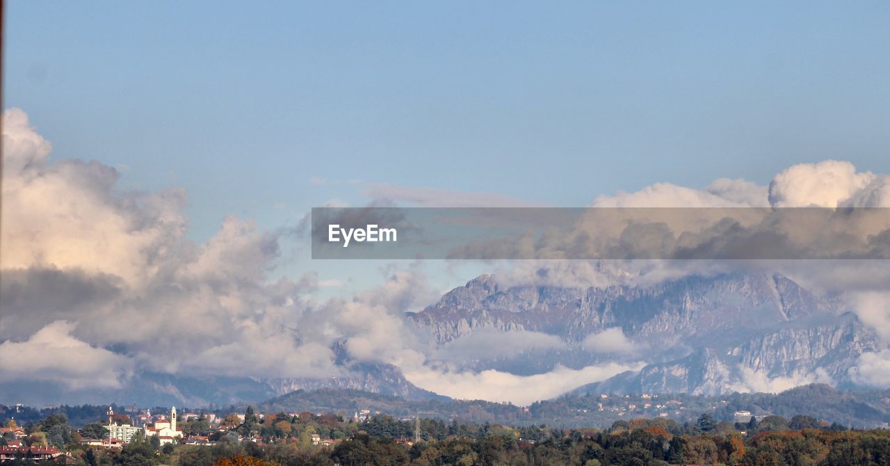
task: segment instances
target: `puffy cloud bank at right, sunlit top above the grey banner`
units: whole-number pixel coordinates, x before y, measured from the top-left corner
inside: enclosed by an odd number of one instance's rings
[[[558,227],[466,241],[448,257],[890,258],[890,217],[875,209],[890,207],[888,193],[890,177],[835,160],[788,168],[769,188],[740,179],[704,190],[653,184],[599,196]]]

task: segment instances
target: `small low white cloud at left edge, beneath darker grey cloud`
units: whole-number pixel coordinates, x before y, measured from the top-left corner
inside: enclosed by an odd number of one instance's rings
[[[69,388],[119,388],[134,362],[71,336],[75,325],[57,321],[25,341],[0,344],[0,379],[59,382]]]

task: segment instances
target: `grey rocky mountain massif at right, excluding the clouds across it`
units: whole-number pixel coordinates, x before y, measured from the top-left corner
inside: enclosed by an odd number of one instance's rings
[[[442,347],[476,331],[536,331],[566,345],[510,361],[480,356],[467,366],[474,370],[544,372],[556,364],[601,363],[619,356],[588,351],[582,342],[611,328],[640,348],[634,357],[651,363],[580,390],[718,394],[811,382],[844,385],[856,358],[878,349],[874,332],[855,315],[781,274],[692,276],[648,288],[587,290],[503,289],[483,275],[408,318]]]

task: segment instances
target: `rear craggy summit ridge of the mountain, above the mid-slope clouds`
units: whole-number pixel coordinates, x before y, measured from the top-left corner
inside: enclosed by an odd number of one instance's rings
[[[409,314],[439,343],[473,331],[543,331],[567,340],[620,327],[659,341],[724,338],[811,314],[835,312],[826,299],[781,275],[689,277],[651,288],[564,289],[517,286],[501,290],[490,275],[451,290],[423,312]]]

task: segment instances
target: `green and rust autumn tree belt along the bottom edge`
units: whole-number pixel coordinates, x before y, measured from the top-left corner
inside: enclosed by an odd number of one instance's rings
[[[200,422],[192,421],[189,427],[206,429]],[[52,414],[28,425],[27,443],[64,445],[69,463],[82,466],[890,464],[890,430],[850,430],[804,415],[733,423],[704,413],[684,423],[656,418],[617,421],[608,429],[561,429],[401,421],[387,415],[361,422],[332,413],[259,416],[248,408],[244,421],[231,430],[207,430],[213,432],[214,445],[161,447],[155,437],[138,437],[119,451],[77,442],[91,429],[101,426],[75,430],[64,416]],[[315,445],[320,439],[333,445]]]

